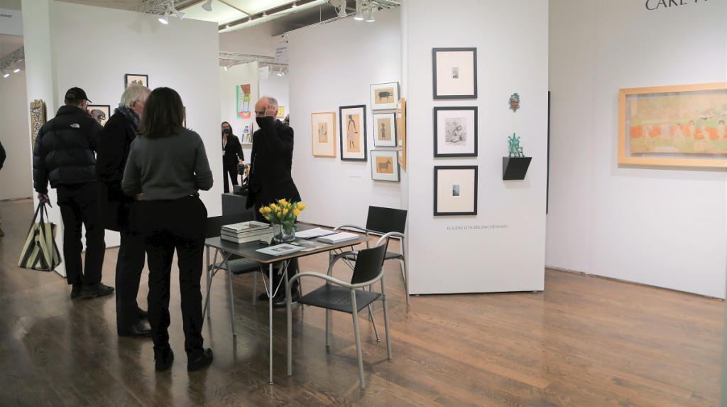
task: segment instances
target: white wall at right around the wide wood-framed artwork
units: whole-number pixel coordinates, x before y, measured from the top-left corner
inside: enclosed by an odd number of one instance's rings
[[[550,1],[546,264],[724,298],[725,170],[616,164],[619,89],[727,81],[727,1],[680,3]]]

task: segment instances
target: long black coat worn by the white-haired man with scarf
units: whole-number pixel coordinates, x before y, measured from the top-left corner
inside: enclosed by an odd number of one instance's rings
[[[108,230],[129,232],[138,227],[129,224],[136,220],[131,216],[136,201],[121,190],[126,158],[129,158],[129,148],[136,137],[124,113],[113,113],[103,126],[96,157],[96,175],[101,182],[101,222]]]

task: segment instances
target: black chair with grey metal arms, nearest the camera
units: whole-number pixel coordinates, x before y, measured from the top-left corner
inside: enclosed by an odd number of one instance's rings
[[[356,264],[353,267],[353,275],[350,283],[333,277],[335,263],[352,254],[352,251],[338,254],[329,263],[328,273],[297,273],[290,281],[297,281],[302,278],[320,278],[326,283],[303,295],[298,299],[298,304],[312,305],[326,310],[326,347],[331,346],[330,326],[331,311],[341,311],[353,315],[353,333],[356,337],[356,356],[358,358],[358,374],[361,379],[361,389],[366,387],[364,381],[364,361],[361,357],[361,335],[358,329],[358,313],[371,305],[372,302],[381,300],[384,309],[384,329],[386,336],[387,358],[391,359],[391,340],[389,336],[389,310],[386,304],[386,284],[384,282],[384,259],[389,239],[379,238],[376,245],[369,249],[362,249],[356,252]],[[373,286],[377,281],[381,282],[381,292],[366,291],[364,287]],[[286,286],[286,306],[288,310],[288,376],[293,374],[293,346],[292,346],[292,303],[290,301],[290,286]],[[373,318],[371,322],[374,323]],[[376,323],[374,323],[374,329]],[[379,340],[377,335],[377,340]]]

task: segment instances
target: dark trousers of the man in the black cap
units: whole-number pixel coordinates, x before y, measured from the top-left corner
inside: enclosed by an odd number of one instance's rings
[[[58,206],[63,217],[63,257],[68,284],[101,282],[106,253],[96,182],[58,185]],[[86,267],[81,265],[81,225],[86,229]]]

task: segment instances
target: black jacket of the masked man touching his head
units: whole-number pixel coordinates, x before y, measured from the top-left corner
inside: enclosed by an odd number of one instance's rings
[[[246,207],[268,205],[281,198],[300,201],[292,166],[293,129],[272,117],[262,118],[260,129],[252,134]]]

